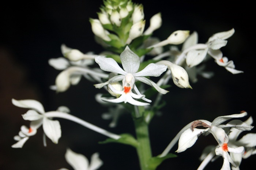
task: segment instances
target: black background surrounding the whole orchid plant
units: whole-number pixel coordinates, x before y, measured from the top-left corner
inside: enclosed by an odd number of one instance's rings
[[[245,110],[255,117],[255,27],[253,5],[247,1],[230,3],[212,1],[208,4],[193,1],[134,1],[144,5],[146,27],[154,14],[161,12],[163,25],[154,32],[161,40],[173,31],[197,31],[199,43],[218,32],[232,28],[235,33],[222,48],[224,56],[233,60],[236,69],[244,73],[233,75],[219,67],[214,60],[208,61],[207,70],[215,76],[208,80],[199,77],[191,89],[173,86],[164,96],[167,105],[161,110],[162,116],[155,117],[150,124],[150,137],[153,155],[161,154],[171,139],[189,122],[197,119],[208,121],[223,115],[237,114]],[[21,125],[29,125],[21,114],[27,109],[18,108],[11,99],[36,99],[46,112],[64,105],[71,114],[111,132],[132,133],[131,116],[120,117],[116,128],[108,127],[109,121],[102,120],[106,112],[94,101],[94,95],[104,92],[96,89],[93,83],[82,79],[77,86],[56,94],[49,89],[60,71],[48,64],[50,58],[61,57],[60,45],[86,53],[100,53],[102,48],[94,41],[89,18],[97,18],[96,12],[101,0],[74,1],[31,1],[5,2],[1,4],[0,31],[0,169],[1,170],[56,170],[61,167],[72,169],[65,161],[67,147],[84,154],[90,159],[94,152],[100,153],[104,165],[102,170],[139,170],[138,158],[134,148],[122,144],[98,144],[106,139],[90,129],[74,122],[59,120],[62,137],[59,144],[47,139],[43,147],[42,128],[31,137],[22,149],[11,148],[15,143]],[[172,81],[169,82],[173,84]],[[247,117],[246,117],[247,118]],[[245,120],[245,119],[244,119]],[[253,123],[255,125],[255,123]],[[252,130],[255,133],[255,129]],[[212,136],[200,136],[196,144],[187,151],[177,154],[177,158],[165,160],[158,170],[197,169],[202,150],[209,144],[216,144]],[[174,146],[171,152],[177,149]],[[254,165],[255,155],[242,161],[241,169]],[[223,159],[210,163],[206,169],[221,169]]]

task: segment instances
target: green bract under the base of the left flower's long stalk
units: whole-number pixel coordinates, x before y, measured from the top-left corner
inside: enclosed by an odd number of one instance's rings
[[[105,141],[100,141],[99,143],[100,144],[113,143],[113,142],[114,143],[123,143],[123,144],[131,145],[135,148],[138,146],[137,140],[131,134],[123,133],[120,136],[121,136],[121,138],[118,140],[108,138]]]

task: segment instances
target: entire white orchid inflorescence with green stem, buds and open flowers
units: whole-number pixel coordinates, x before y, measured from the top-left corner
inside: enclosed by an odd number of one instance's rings
[[[98,19],[89,20],[95,41],[105,50],[100,54],[82,53],[62,44],[63,57],[49,60],[49,65],[61,71],[50,89],[65,92],[71,85],[76,85],[82,78],[86,78],[95,88],[105,89],[105,94],[96,94],[95,100],[108,107],[108,112],[102,117],[113,119],[109,126],[116,127],[120,114],[131,113],[136,137],[127,133],[117,135],[106,131],[73,116],[65,106],[56,111],[45,112],[39,101],[12,99],[15,106],[30,109],[22,115],[24,120],[30,121],[30,125],[21,126],[19,134],[14,137],[17,143],[12,147],[22,148],[31,136],[36,135],[41,126],[44,130],[44,145],[46,146],[46,136],[57,144],[61,137],[61,125],[55,118],[64,118],[109,137],[102,143],[117,142],[135,147],[141,170],[155,170],[163,160],[175,157],[170,150],[177,142],[178,154],[192,147],[199,136],[209,134],[213,135],[217,143],[216,146],[207,147],[207,150],[203,151],[200,157],[202,164],[198,170],[204,169],[215,156],[223,158],[221,170],[228,170],[230,167],[232,170],[238,170],[242,158],[256,153],[255,133],[248,133],[238,139],[242,131],[250,131],[253,128],[252,117],[244,122],[235,119],[247,116],[245,111],[220,116],[212,122],[195,120],[187,124],[162,154],[157,156],[151,153],[148,134],[148,125],[164,106],[161,104],[162,96],[168,95],[169,87],[175,84],[179,88],[192,89],[189,80],[195,83],[199,75],[211,78],[214,73],[204,71],[204,66],[211,58],[230,73],[243,73],[235,69],[233,61],[229,61],[221,52],[221,48],[227,44],[226,39],[234,34],[234,29],[215,33],[206,43],[198,43],[197,32],[190,34],[188,30],[174,31],[161,41],[153,37],[153,32],[162,25],[161,13],[153,15],[149,21],[150,26],[145,29],[146,20],[142,4],[135,4],[131,0],[104,0],[103,4],[101,11],[97,13]],[[178,45],[181,44],[179,49]],[[164,51],[163,47],[167,45],[170,48]],[[153,95],[157,97],[153,98]],[[223,124],[230,119],[233,120]],[[67,149],[65,158],[74,169],[95,170],[103,164],[98,153],[92,156],[90,165],[85,156],[71,149]]]

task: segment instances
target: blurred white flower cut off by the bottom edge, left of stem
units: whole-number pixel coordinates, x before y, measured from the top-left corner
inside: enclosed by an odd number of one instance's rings
[[[68,148],[65,153],[65,159],[74,170],[97,170],[103,165],[102,160],[99,158],[98,152],[91,156],[91,163],[89,164],[89,160],[86,158],[86,156],[78,154]],[[59,170],[68,169],[61,168]]]

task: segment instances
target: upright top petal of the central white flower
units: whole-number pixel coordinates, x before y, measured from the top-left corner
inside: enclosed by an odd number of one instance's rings
[[[122,66],[127,73],[136,73],[140,66],[140,57],[133,53],[132,50],[126,46],[125,50],[120,54]]]

